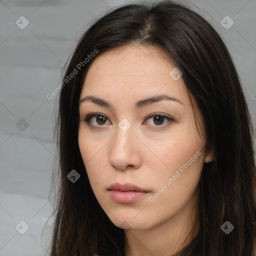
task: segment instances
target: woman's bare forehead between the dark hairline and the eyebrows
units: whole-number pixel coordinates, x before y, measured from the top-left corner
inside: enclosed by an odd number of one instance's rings
[[[182,77],[174,80],[169,74],[174,67],[170,57],[158,47],[118,46],[93,60],[80,98],[94,94],[116,101],[164,93],[184,99],[187,92]]]

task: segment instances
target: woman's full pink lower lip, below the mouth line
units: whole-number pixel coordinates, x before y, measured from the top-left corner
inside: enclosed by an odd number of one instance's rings
[[[117,203],[133,203],[145,196],[148,192],[110,190],[110,197]]]

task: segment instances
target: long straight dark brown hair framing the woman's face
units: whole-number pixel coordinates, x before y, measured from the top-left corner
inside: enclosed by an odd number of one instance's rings
[[[59,159],[52,185],[56,181],[59,186],[50,255],[124,256],[124,231],[98,204],[79,151],[78,101],[93,60],[108,49],[133,42],[160,47],[182,71],[203,116],[207,148],[214,153],[213,161],[204,163],[199,180],[198,235],[175,255],[252,256],[256,168],[244,93],[215,29],[188,6],[172,1],[126,4],[108,11],[86,29],[68,61],[54,130]],[[88,55],[91,58],[85,60]],[[75,73],[72,78],[70,73]],[[73,169],[80,174],[74,183],[67,178]],[[225,221],[234,226],[229,234],[220,228]]]

